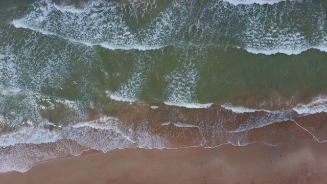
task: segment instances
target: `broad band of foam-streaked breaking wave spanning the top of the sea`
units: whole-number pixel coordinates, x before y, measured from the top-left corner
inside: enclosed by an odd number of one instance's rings
[[[35,2],[34,10],[14,19],[13,25],[110,50],[156,50],[176,44],[227,45],[266,55],[327,50],[324,2],[228,2],[173,1],[159,9],[161,3],[156,1],[89,1],[77,9],[46,0]],[[307,8],[301,9],[302,4]],[[304,29],[305,22],[311,22],[310,32]]]

